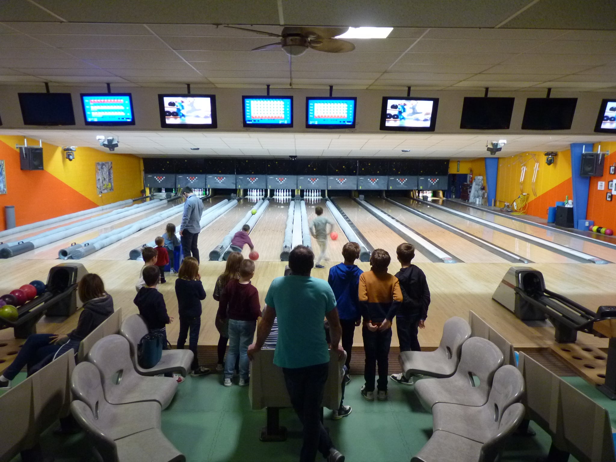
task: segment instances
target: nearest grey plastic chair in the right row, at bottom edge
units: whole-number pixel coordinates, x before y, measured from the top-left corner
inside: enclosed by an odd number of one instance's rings
[[[505,444],[506,438],[521,424],[524,405],[513,403],[506,408],[490,439],[484,444],[450,432],[437,430],[411,462],[493,462]]]

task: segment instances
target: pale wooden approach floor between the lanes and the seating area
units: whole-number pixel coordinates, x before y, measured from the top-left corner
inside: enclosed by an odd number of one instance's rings
[[[205,249],[204,249],[205,250]],[[224,262],[201,262],[201,277],[208,298],[203,302],[201,317],[200,344],[216,345],[218,333],[214,327],[214,314],[217,303],[211,298],[214,282],[222,272]],[[136,295],[134,285],[139,276],[142,262],[114,261],[90,259],[81,261],[89,272],[99,274],[108,293],[113,296],[116,307],[122,307],[124,316],[136,313],[132,300]],[[30,282],[33,279],[47,279],[49,269],[59,264],[58,260],[46,259],[9,259],[0,260],[0,293]],[[325,269],[314,269],[312,275],[326,279],[328,269],[338,261],[325,262]],[[510,264],[439,264],[418,263],[424,270],[432,293],[432,303],[429,309],[426,329],[420,331],[419,342],[423,347],[436,347],[439,344],[442,327],[448,318],[460,316],[468,318],[469,309],[474,310],[490,325],[512,342],[515,347],[533,348],[547,347],[554,343],[553,328],[530,327],[519,321],[500,304],[492,300],[492,293],[505,275]],[[368,263],[359,263],[363,270],[369,269]],[[553,291],[590,309],[600,305],[614,304],[616,300],[616,265],[592,264],[532,264],[532,267],[543,272],[546,286]],[[254,285],[259,289],[261,302],[265,298],[267,288],[275,277],[283,274],[285,262],[257,261]],[[390,266],[391,272],[397,271],[396,262]],[[167,278],[168,282],[159,286],[168,307],[169,315],[176,320],[168,326],[168,338],[174,343],[177,338],[179,323],[177,322],[177,299],[174,291],[175,277]],[[38,324],[39,332],[67,333],[75,327],[79,312],[68,320],[43,318]],[[0,338],[12,338],[12,329],[0,331]],[[607,347],[607,340],[595,338],[588,334],[579,334],[578,339],[589,345]],[[355,335],[355,346],[362,345],[362,336],[358,328]],[[392,347],[398,345],[397,336],[392,339]]]

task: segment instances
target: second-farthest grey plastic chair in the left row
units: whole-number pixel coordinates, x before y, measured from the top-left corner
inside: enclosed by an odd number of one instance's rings
[[[121,335],[108,335],[97,341],[87,359],[100,371],[105,399],[111,404],[156,401],[164,409],[176,394],[176,379],[137,374],[128,340]]]

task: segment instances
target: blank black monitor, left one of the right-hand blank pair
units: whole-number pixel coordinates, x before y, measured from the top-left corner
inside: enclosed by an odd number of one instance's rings
[[[506,130],[511,124],[515,98],[464,97],[460,128]]]

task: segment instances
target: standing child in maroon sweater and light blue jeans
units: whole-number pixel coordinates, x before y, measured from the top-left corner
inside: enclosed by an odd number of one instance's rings
[[[253,342],[257,319],[261,316],[259,291],[250,283],[254,276],[254,262],[245,259],[240,264],[240,279],[232,279],[225,286],[218,306],[217,317],[229,318],[229,352],[225,360],[224,386],[231,386],[235,360],[240,357],[240,387],[248,385],[248,346]]]

